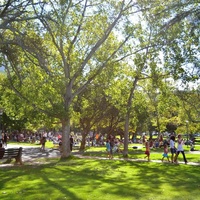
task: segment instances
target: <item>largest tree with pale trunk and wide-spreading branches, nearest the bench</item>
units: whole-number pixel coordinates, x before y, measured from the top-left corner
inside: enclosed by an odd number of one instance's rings
[[[1,65],[12,90],[33,109],[60,120],[62,157],[70,155],[74,98],[124,57],[120,50],[131,36],[129,15],[140,11],[136,2],[125,0],[50,0],[33,4],[20,23],[9,21],[1,31]]]

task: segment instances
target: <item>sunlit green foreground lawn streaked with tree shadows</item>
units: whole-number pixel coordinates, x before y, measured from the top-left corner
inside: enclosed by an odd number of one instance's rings
[[[199,200],[199,166],[51,159],[0,168],[3,200]]]

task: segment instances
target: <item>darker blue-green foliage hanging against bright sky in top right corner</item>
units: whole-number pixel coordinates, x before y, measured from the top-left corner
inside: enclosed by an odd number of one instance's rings
[[[143,2],[145,7],[148,7]],[[160,6],[156,6],[156,4]],[[164,66],[184,82],[199,79],[199,2],[154,1],[146,9],[146,21],[155,32],[155,42],[162,48]]]

